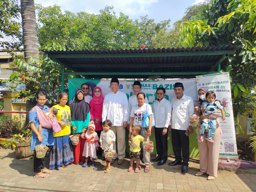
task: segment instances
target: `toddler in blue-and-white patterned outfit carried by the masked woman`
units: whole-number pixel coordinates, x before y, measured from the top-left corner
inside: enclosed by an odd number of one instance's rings
[[[208,91],[205,95],[206,97],[206,102],[203,103],[202,107],[201,107],[201,111],[203,115],[209,115],[212,113],[215,113],[217,111],[217,109],[221,110],[221,114],[222,120],[225,120],[225,113],[223,110],[223,106],[221,106],[220,104],[214,102],[214,100],[216,99],[216,95],[213,91]],[[198,141],[202,142],[203,141],[203,135],[204,133],[207,133],[207,137],[205,139],[207,139],[207,141],[210,142],[214,142],[212,140],[212,136],[216,131],[216,119],[208,119],[205,118],[201,121],[201,127],[200,127],[200,134],[198,136]]]

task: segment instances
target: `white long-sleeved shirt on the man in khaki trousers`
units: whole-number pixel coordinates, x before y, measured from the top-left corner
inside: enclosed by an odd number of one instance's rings
[[[108,93],[103,102],[102,122],[111,120],[113,126],[123,126],[123,121],[128,121],[128,99],[125,93],[117,91]]]

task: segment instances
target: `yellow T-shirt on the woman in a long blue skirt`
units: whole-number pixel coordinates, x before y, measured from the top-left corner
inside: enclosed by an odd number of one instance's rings
[[[56,136],[65,136],[71,133],[71,113],[70,113],[70,107],[60,106],[59,104],[54,105],[54,108],[58,109],[58,113],[56,114],[56,118],[58,121],[63,121],[66,126],[61,127],[61,131],[58,133],[54,133],[54,137]]]

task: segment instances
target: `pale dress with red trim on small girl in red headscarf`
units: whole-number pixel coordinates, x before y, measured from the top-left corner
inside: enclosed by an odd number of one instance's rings
[[[93,132],[92,134],[89,134],[88,131],[81,134],[81,138],[86,139],[84,144],[84,151],[83,156],[96,158],[96,147],[99,147],[99,137],[96,132]]]

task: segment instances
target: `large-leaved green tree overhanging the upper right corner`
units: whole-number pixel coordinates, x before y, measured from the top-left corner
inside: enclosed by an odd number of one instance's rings
[[[243,45],[222,65],[232,79],[234,114],[240,99],[256,86],[256,0],[212,0],[202,12],[182,23],[184,47]]]

